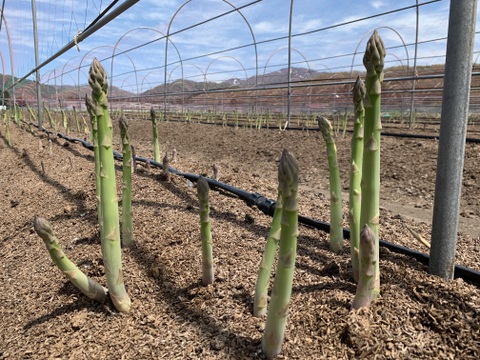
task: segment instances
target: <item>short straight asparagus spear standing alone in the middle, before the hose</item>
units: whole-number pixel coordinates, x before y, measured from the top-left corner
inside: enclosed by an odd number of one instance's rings
[[[197,182],[197,194],[200,204],[200,235],[202,239],[202,283],[213,284],[215,276],[213,269],[213,243],[210,226],[210,187],[207,180],[200,176]]]

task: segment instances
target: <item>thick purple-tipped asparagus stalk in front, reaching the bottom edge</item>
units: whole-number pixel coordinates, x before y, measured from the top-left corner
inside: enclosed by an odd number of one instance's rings
[[[298,165],[287,150],[283,151],[278,166],[278,187],[283,208],[278,264],[262,338],[262,350],[267,358],[277,356],[282,349],[297,255]]]

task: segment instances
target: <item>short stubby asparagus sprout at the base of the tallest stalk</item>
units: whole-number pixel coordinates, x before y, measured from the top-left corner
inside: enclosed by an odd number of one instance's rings
[[[375,234],[365,225],[360,234],[360,247],[357,250],[360,257],[360,277],[357,284],[357,292],[353,299],[352,309],[368,307],[374,298],[375,287]]]

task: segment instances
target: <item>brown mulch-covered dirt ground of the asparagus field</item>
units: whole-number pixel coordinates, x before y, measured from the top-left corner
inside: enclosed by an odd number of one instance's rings
[[[176,176],[165,182],[160,170],[139,165],[135,244],[123,252],[132,309],[119,314],[110,302],[95,303],[74,288],[32,228],[34,215],[48,219],[70,259],[105,284],[93,153],[38,131],[14,125],[10,131],[12,147],[1,124],[0,359],[263,358],[265,319],[253,317],[252,297],[271,218],[224,191],[210,192],[216,281],[204,287],[196,189]],[[150,123],[132,121],[130,134],[137,155],[152,158]],[[170,122],[160,124],[159,134],[162,151],[177,150],[171,165],[178,170],[211,176],[216,163],[220,181],[271,199],[277,161],[288,148],[300,167],[300,214],[329,221],[326,151],[318,132]],[[116,131],[119,149],[117,137]],[[337,139],[345,192],[349,143],[348,133]],[[479,150],[467,144],[457,245],[457,263],[476,271]],[[382,239],[428,253],[407,227],[430,240],[436,154],[436,140],[383,137]],[[335,255],[328,234],[303,225],[299,232],[282,358],[480,358],[478,285],[440,280],[425,265],[382,248],[381,296],[369,309],[351,312],[348,242]]]

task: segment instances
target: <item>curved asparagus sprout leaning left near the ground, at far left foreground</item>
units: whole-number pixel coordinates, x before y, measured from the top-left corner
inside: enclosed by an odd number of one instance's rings
[[[90,299],[103,302],[107,295],[107,289],[85,275],[68,259],[53,233],[50,223],[41,217],[35,216],[33,227],[37,235],[45,242],[52,261],[65,274],[68,280]]]

